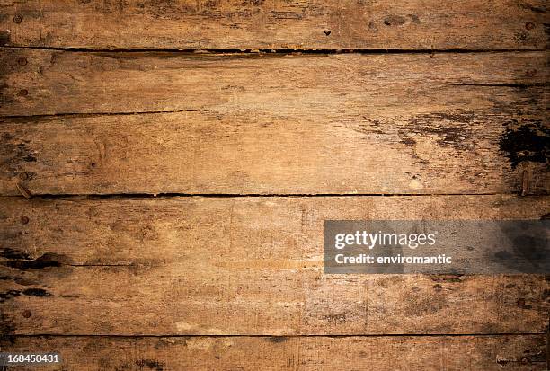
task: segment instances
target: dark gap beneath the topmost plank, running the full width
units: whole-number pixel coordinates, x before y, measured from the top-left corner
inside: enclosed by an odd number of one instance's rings
[[[327,54],[434,54],[434,53],[528,53],[541,52],[548,49],[149,49],[149,48],[118,48],[118,49],[101,49],[101,48],[58,48],[58,47],[34,47],[34,46],[17,46],[4,45],[1,49],[41,49],[41,50],[57,50],[67,52],[109,52],[109,53],[143,53],[143,52],[173,52],[180,54],[242,54],[242,55],[287,55],[287,54],[302,54],[302,55],[327,55]]]

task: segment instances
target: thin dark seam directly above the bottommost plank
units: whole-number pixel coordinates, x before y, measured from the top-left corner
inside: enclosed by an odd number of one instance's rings
[[[494,336],[545,336],[546,332],[495,332],[495,333],[395,333],[395,334],[305,334],[305,335],[245,335],[245,334],[63,334],[63,333],[37,333],[37,334],[6,334],[4,337],[35,338],[435,338],[435,337],[494,337]]]

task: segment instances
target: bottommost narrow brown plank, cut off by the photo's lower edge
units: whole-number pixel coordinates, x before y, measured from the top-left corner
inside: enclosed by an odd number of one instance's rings
[[[545,335],[435,337],[32,337],[70,370],[544,370]],[[18,370],[25,368],[10,367]],[[58,369],[40,367],[40,369]]]

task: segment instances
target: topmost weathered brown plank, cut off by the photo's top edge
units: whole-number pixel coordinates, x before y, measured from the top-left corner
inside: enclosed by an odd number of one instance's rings
[[[3,45],[90,49],[544,49],[544,0],[0,2]]]

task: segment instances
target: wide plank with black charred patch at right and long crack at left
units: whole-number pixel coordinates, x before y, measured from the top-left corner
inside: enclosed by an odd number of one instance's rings
[[[0,119],[4,195],[550,187],[540,53],[3,56],[4,115],[183,110]]]

